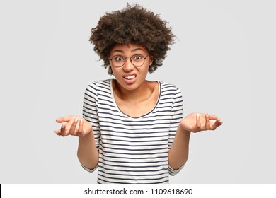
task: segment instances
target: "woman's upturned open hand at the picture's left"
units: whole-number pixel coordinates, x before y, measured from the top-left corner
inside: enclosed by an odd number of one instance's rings
[[[59,136],[79,136],[83,137],[87,134],[90,134],[92,130],[92,125],[87,122],[83,117],[71,115],[67,117],[59,117],[56,120],[58,123],[62,124],[62,127],[58,130],[55,130],[55,134]]]

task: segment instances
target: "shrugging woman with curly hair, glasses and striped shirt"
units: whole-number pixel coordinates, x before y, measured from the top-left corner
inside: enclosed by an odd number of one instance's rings
[[[174,35],[158,15],[135,5],[106,13],[90,42],[115,79],[95,81],[84,94],[83,117],[60,117],[60,136],[79,136],[84,169],[98,183],[168,183],[188,159],[190,132],[214,130],[215,115],[183,119],[177,86],[147,81],[162,65]]]

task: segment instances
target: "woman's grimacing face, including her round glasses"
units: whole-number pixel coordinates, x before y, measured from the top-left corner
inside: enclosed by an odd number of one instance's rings
[[[128,91],[134,91],[145,82],[152,64],[151,56],[143,45],[117,44],[110,51],[110,59],[113,75],[120,86]]]

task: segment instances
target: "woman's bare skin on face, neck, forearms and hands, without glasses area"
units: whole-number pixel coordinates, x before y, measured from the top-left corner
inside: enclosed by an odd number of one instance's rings
[[[146,57],[146,48],[141,45],[115,45],[110,52],[122,57],[132,57],[134,54],[142,54]],[[134,66],[130,59],[121,67],[110,65],[113,69],[115,80],[113,80],[113,95],[117,106],[132,117],[139,117],[149,112],[158,98],[159,87],[156,82],[146,81],[146,74],[152,59],[145,59],[142,66]],[[139,106],[139,108],[137,108]],[[93,129],[89,122],[79,116],[60,117],[58,123],[61,129],[55,131],[59,136],[79,136],[78,157],[79,161],[86,167],[93,169],[98,165],[98,150],[96,148]],[[171,149],[168,151],[168,164],[177,170],[188,159],[190,133],[207,130],[215,130],[222,125],[222,121],[216,115],[207,113],[191,113],[178,124],[175,139]]]

